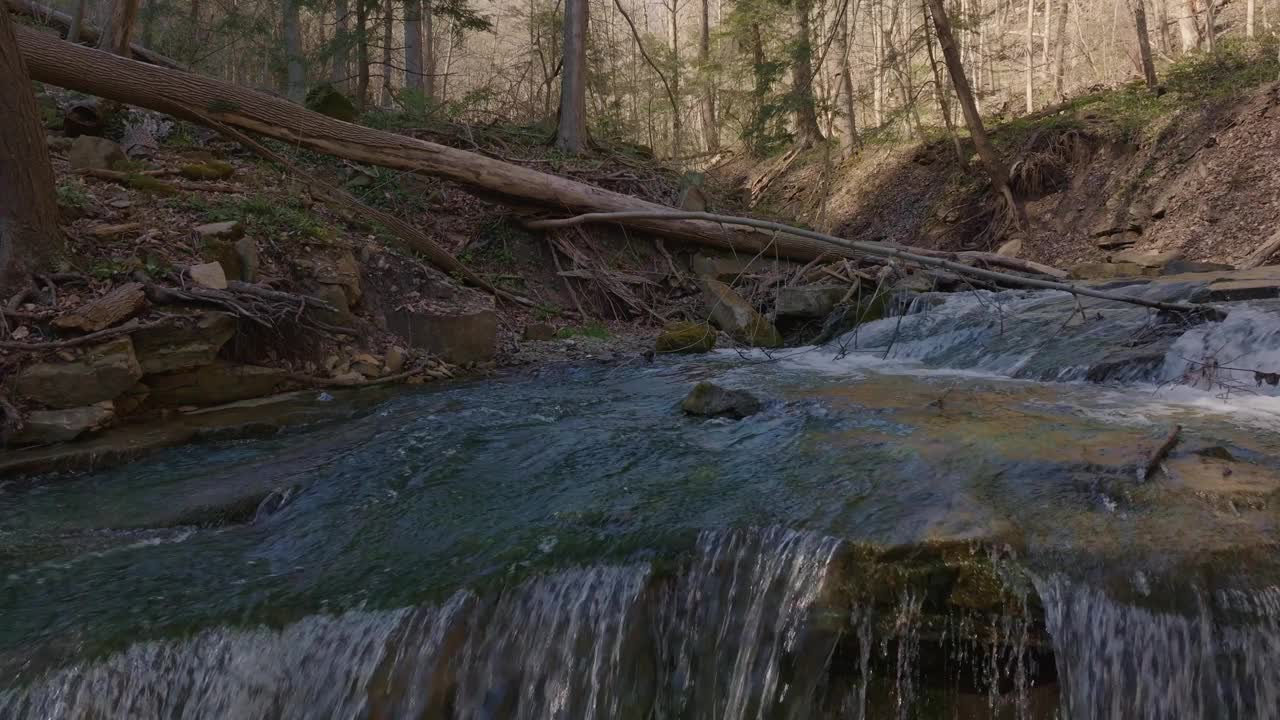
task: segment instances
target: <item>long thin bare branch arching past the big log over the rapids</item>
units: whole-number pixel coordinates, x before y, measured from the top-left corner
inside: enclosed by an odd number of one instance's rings
[[[835,247],[851,250],[867,255],[873,255],[877,258],[893,258],[915,265],[924,265],[929,268],[943,268],[946,270],[951,270],[952,273],[960,275],[977,277],[986,281],[998,282],[1006,286],[1032,287],[1039,290],[1057,290],[1061,292],[1069,292],[1075,296],[1084,295],[1087,297],[1111,300],[1114,302],[1128,302],[1130,305],[1140,305],[1143,307],[1152,307],[1156,310],[1165,310],[1169,313],[1207,314],[1210,318],[1219,318],[1219,319],[1222,316],[1220,310],[1210,305],[1201,305],[1194,302],[1161,302],[1157,300],[1147,300],[1144,297],[1117,295],[1115,292],[1106,292],[1074,283],[1027,278],[1011,273],[1001,273],[997,270],[988,270],[984,268],[974,268],[972,265],[965,265],[943,258],[922,255],[919,252],[915,252],[914,249],[911,251],[908,251],[892,245],[845,240],[842,237],[836,237],[833,234],[826,234],[809,229],[796,228],[782,223],[758,220],[755,218],[741,218],[736,215],[718,215],[714,213],[689,213],[682,210],[675,210],[668,213],[653,213],[648,210],[623,211],[623,213],[588,213],[584,215],[576,215],[573,218],[563,218],[554,220],[535,220],[530,222],[529,227],[535,229],[559,229],[585,223],[609,223],[618,220],[632,220],[639,218],[663,218],[671,220],[705,220],[721,224],[745,225],[759,229],[769,229],[792,236],[806,237],[809,240],[829,243]]]

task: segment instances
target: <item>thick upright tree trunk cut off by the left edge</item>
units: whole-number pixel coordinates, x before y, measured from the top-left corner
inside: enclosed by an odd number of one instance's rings
[[[5,118],[0,132],[0,296],[8,299],[27,273],[60,255],[64,243],[45,129],[6,12],[0,13],[0,111]]]

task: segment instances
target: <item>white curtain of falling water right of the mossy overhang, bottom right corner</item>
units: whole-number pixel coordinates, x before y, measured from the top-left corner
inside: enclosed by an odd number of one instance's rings
[[[1181,615],[1037,584],[1066,717],[1280,717],[1280,588],[1196,592]]]

